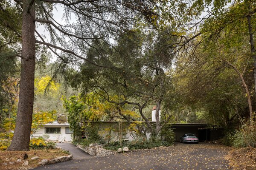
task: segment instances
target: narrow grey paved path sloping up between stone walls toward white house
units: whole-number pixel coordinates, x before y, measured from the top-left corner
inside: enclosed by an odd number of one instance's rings
[[[57,143],[57,146],[61,146],[62,149],[70,151],[70,153],[73,155],[73,159],[84,159],[92,157],[72,143]]]

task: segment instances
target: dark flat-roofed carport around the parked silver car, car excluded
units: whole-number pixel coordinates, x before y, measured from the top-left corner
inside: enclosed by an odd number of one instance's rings
[[[199,136],[199,129],[204,129],[207,127],[208,124],[201,124],[201,123],[175,123],[172,124],[172,130],[175,133],[176,142],[180,141],[180,136],[185,133],[193,133],[195,136]],[[202,141],[199,137],[199,141]]]

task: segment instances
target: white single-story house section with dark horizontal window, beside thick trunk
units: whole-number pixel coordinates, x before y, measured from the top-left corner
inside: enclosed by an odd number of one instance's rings
[[[50,141],[72,141],[73,131],[70,130],[69,123],[58,123],[54,121],[42,125],[32,134],[33,137],[44,137]]]

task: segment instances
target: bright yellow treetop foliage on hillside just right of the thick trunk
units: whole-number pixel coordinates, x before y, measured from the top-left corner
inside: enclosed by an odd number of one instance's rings
[[[45,76],[41,79],[35,79],[35,94],[44,94],[45,90],[49,90],[49,94],[56,96],[56,92],[60,87],[59,83],[55,83],[51,77]]]

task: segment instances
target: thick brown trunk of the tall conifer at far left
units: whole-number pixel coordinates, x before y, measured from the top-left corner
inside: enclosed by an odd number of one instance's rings
[[[35,79],[35,5],[23,0],[22,58],[17,121],[8,150],[29,150],[34,104]]]

